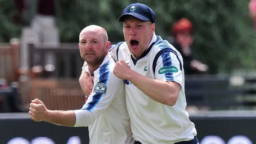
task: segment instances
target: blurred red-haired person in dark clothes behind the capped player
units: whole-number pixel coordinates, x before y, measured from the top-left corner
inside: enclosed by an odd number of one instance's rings
[[[172,26],[172,36],[173,40],[170,44],[182,55],[185,74],[206,73],[208,67],[193,56],[191,48],[194,42],[192,23],[186,18],[178,20]]]

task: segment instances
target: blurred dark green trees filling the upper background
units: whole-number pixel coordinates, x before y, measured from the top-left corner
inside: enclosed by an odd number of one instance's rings
[[[142,2],[156,13],[156,34],[167,39],[176,20],[194,24],[194,50],[210,73],[256,67],[256,36],[249,16],[250,0],[62,0],[62,42],[78,42],[80,30],[90,24],[106,28],[109,39],[123,41],[118,17],[131,3]],[[13,4],[0,0],[0,41],[19,34],[11,21]],[[15,8],[14,8],[15,9]],[[6,37],[6,38],[4,38]]]

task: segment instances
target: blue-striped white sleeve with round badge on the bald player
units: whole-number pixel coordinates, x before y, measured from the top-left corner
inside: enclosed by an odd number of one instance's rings
[[[92,113],[94,120],[108,108],[115,96],[120,92],[122,80],[110,71],[109,62],[100,66],[99,73],[94,77],[94,87],[86,103],[82,107]]]

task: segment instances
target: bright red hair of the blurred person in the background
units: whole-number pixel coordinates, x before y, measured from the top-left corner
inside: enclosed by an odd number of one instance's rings
[[[182,18],[178,20],[178,22],[174,23],[174,25],[172,26],[172,36],[176,37],[178,32],[192,34],[193,32],[192,22],[190,22],[186,18]]]

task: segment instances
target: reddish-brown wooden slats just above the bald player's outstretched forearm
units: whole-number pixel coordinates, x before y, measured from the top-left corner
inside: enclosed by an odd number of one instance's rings
[[[21,105],[28,109],[31,100],[38,98],[50,110],[74,110],[82,108],[85,95],[78,80],[32,79],[20,82]]]

